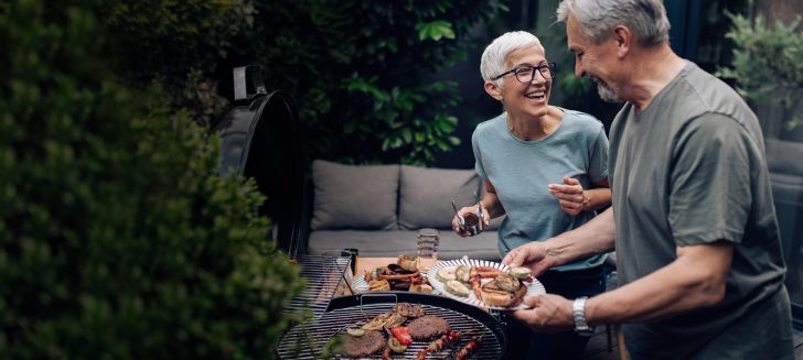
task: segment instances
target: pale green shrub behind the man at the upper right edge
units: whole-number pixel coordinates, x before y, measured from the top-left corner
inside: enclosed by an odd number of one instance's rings
[[[752,22],[743,15],[727,14],[734,28],[726,36],[736,47],[732,67],[720,68],[718,76],[736,80],[737,90],[747,99],[790,111],[788,130],[803,126],[803,114],[794,111],[803,97],[801,18],[788,25],[777,21],[774,29],[768,29],[762,17]]]

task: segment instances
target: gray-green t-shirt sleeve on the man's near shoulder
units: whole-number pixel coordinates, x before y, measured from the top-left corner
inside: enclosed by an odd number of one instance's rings
[[[746,129],[707,113],[678,132],[673,149],[668,221],[677,246],[741,242],[751,206],[749,153],[757,151]]]

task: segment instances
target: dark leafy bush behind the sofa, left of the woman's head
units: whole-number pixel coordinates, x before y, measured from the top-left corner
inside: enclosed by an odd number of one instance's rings
[[[308,157],[431,163],[459,143],[456,84],[433,80],[464,56],[469,31],[502,6],[485,1],[310,0],[256,3],[256,58],[293,94]]]

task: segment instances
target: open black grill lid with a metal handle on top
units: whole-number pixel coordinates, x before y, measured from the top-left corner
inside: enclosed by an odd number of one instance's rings
[[[274,240],[295,255],[304,201],[296,103],[285,91],[268,92],[255,66],[234,69],[234,107],[213,127],[221,135],[220,174],[256,181],[267,197],[260,212],[272,219]]]

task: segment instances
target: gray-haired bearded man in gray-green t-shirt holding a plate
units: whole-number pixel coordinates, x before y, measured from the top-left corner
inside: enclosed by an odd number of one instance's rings
[[[610,132],[612,207],[503,262],[539,274],[615,244],[620,287],[574,302],[532,297],[515,316],[539,331],[624,324],[634,359],[793,359],[756,114],[672,52],[660,0],[565,0],[557,18],[576,75],[627,101]]]

